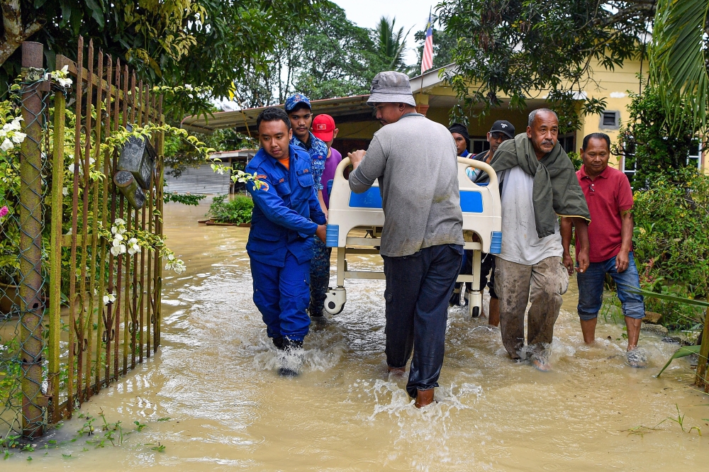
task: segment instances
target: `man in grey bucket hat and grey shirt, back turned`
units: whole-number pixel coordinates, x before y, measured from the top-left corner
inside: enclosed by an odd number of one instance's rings
[[[457,150],[445,126],[416,113],[408,76],[380,72],[367,100],[384,125],[367,151],[349,155],[350,189],[379,179],[386,278],[386,363],[415,405],[432,403],[445,349],[448,299],[463,255]]]

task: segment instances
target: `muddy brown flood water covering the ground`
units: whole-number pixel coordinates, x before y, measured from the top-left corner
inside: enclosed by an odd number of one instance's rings
[[[657,471],[709,462],[709,398],[693,387],[688,361],[653,377],[678,345],[642,332],[650,365],[632,369],[622,327],[599,321],[598,342],[586,347],[573,281],[552,373],[510,361],[485,319],[451,308],[438,403],[417,410],[406,380],[386,373],[384,282],[347,281],[345,309],[306,338],[301,375],[280,378],[251,299],[248,230],[198,225],[207,208],[165,206],[168,245],[187,271],[164,274],[160,352],[50,433],[60,446],[16,453],[3,471]],[[685,432],[662,422],[677,408]],[[145,427],[122,446],[72,442],[79,413],[99,412],[124,432],[134,421]],[[102,437],[100,423],[89,439]]]

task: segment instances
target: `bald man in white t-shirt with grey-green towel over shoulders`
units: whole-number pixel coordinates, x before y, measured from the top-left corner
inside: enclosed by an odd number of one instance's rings
[[[588,267],[588,206],[574,167],[558,144],[559,120],[546,108],[530,113],[526,135],[503,142],[492,166],[502,181],[502,251],[495,291],[500,330],[510,357],[530,356],[548,371],[554,322],[569,286],[557,215],[571,218],[579,235],[579,271]],[[585,245],[584,245],[585,242]],[[527,347],[524,347],[525,310]]]

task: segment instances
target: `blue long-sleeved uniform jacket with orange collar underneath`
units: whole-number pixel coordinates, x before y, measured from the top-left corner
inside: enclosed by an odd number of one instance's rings
[[[288,251],[303,264],[313,258],[313,238],[318,225],[326,223],[308,152],[289,146],[290,164],[283,164],[263,149],[246,166],[262,182],[252,181],[247,190],[254,199],[251,232],[246,250],[257,262],[283,267]]]

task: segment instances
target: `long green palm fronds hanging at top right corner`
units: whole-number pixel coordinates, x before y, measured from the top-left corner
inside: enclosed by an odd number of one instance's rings
[[[708,0],[657,2],[649,54],[650,80],[659,89],[673,129],[679,129],[687,118],[700,130],[707,129],[708,13]]]

